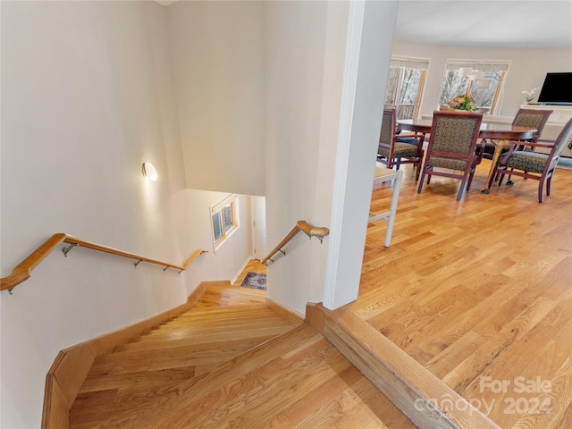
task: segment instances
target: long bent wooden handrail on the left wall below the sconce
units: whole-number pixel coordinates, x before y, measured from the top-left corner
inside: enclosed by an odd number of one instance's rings
[[[70,247],[62,248],[63,254],[67,256],[67,253],[73,248],[74,246],[80,246],[82,248],[91,248],[93,250],[98,250],[100,252],[110,253],[112,255],[116,255],[119,257],[129,257],[130,259],[136,259],[137,262],[135,266],[137,266],[140,262],[148,262],[149,264],[156,264],[164,266],[164,270],[167,268],[174,268],[181,271],[187,269],[187,265],[189,265],[193,259],[206,253],[206,250],[197,250],[192,257],[189,257],[185,261],[183,265],[174,265],[169,264],[166,262],[158,261],[156,259],[151,259],[149,257],[141,257],[140,255],[136,255],[134,253],[125,252],[123,250],[119,250],[117,248],[110,248],[107,246],[103,246],[101,244],[94,243],[92,241],[81,240],[76,237],[73,237],[68,234],[64,234],[62,232],[54,234],[52,237],[44,241],[36,250],[29,254],[20,264],[16,265],[16,267],[12,270],[10,275],[3,277],[0,279],[0,290],[13,290],[15,286],[18,286],[21,282],[25,282],[29,279],[29,275],[31,271],[40,263],[42,262],[49,254],[54,250],[60,243],[68,243]]]

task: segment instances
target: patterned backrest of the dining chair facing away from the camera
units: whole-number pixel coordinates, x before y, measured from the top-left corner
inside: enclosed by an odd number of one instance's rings
[[[472,159],[482,121],[478,113],[434,112],[427,156]]]

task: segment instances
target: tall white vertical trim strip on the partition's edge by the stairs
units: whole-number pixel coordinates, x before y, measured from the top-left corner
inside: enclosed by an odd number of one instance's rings
[[[357,88],[357,69],[359,50],[364,25],[366,2],[350,2],[348,18],[348,41],[346,44],[346,60],[344,64],[343,88],[341,95],[340,132],[336,154],[335,178],[332,197],[332,227],[334,231],[328,240],[328,261],[325,271],[324,307],[334,306],[337,286],[338,265],[340,264],[341,223],[345,200],[345,185],[348,181],[349,146],[353,123],[354,105]]]

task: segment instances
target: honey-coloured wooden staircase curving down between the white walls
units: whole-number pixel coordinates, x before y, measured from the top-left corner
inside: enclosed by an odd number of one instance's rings
[[[70,427],[415,427],[264,295],[214,284],[189,311],[97,357]]]

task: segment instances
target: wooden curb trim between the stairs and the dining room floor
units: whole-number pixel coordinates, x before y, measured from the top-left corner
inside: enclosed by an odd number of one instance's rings
[[[420,429],[500,429],[351,311],[312,304],[307,306],[306,319]],[[455,404],[454,409],[433,405],[445,398]]]

